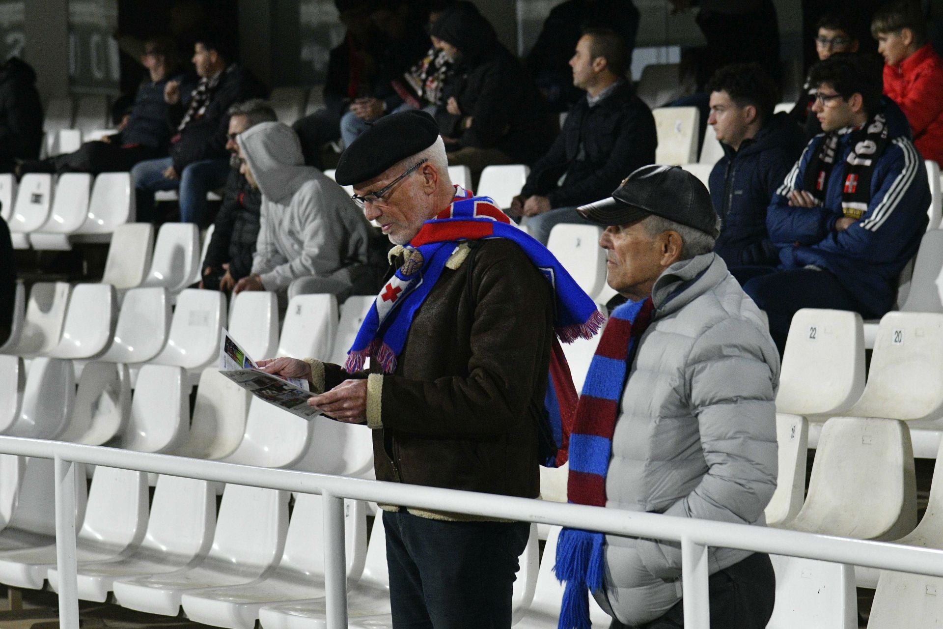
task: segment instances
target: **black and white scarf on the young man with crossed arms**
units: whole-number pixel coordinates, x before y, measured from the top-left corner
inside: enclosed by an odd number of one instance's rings
[[[819,152],[809,161],[805,169],[804,189],[819,201],[825,200],[829,177],[835,166],[835,152],[843,134],[833,131],[825,135]],[[845,159],[845,176],[842,180],[841,211],[852,219],[860,219],[868,211],[871,198],[871,175],[877,158],[885,152],[890,141],[883,113],[872,117],[867,124],[851,131],[852,151]]]

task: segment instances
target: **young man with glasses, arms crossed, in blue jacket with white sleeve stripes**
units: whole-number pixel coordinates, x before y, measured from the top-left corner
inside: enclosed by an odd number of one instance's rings
[[[869,61],[836,55],[810,77],[824,133],[806,146],[767,210],[779,267],[732,270],[767,312],[781,351],[800,308],[854,310],[866,319],[890,310],[930,206],[923,160],[886,124],[880,74]]]

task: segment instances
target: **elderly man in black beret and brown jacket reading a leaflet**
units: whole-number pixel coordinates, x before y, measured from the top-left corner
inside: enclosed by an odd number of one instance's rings
[[[395,273],[343,367],[260,364],[307,377],[325,391],[312,406],[372,428],[378,480],[537,497],[545,405],[566,397],[556,341],[590,336],[602,315],[490,199],[452,185],[428,114],[373,124],[341,156],[337,181],[397,245]],[[511,626],[528,523],[381,506],[394,627]]]

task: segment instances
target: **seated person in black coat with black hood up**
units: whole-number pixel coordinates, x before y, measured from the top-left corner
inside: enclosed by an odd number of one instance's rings
[[[547,102],[478,9],[455,3],[431,35],[455,61],[436,111],[449,165],[468,166],[477,182],[489,164],[532,164],[543,156],[556,135]]]

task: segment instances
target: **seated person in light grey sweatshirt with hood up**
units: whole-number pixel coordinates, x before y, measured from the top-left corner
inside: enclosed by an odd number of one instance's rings
[[[283,304],[296,279],[356,281],[367,263],[370,224],[347,193],[305,166],[290,126],[261,123],[240,133],[241,173],[262,192],[252,273],[234,292],[272,290]]]

